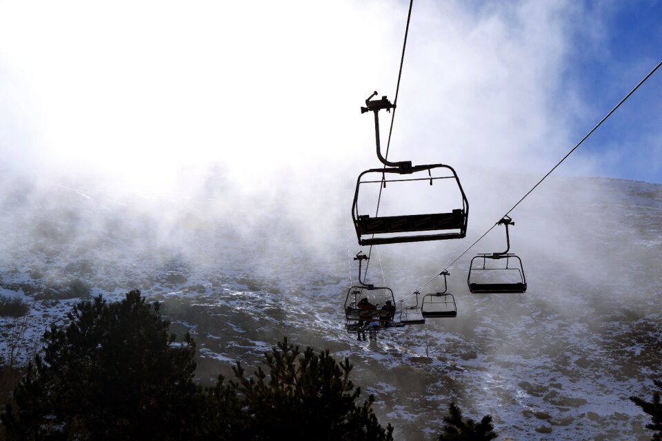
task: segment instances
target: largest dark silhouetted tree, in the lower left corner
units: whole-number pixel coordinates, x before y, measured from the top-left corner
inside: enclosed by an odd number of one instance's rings
[[[2,414],[12,440],[181,440],[197,427],[194,343],[168,334],[140,291],[83,300],[46,331]]]

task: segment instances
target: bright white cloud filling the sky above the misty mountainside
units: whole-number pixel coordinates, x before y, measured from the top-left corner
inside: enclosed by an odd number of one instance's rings
[[[394,99],[407,6],[4,2],[0,148],[152,188],[211,163],[244,185],[323,165],[353,181],[379,165],[359,106]],[[561,83],[572,36],[603,33],[585,17],[568,1],[415,2],[391,157],[545,170],[585,110]]]

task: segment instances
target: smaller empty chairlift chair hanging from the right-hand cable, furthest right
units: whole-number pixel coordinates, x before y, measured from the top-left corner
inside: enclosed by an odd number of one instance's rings
[[[473,293],[523,293],[526,292],[526,278],[522,260],[509,253],[510,235],[508,226],[515,225],[508,216],[497,225],[505,226],[505,252],[478,254],[471,260],[467,282]]]

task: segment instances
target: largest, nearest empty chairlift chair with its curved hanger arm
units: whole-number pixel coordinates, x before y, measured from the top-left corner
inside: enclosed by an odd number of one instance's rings
[[[352,203],[352,220],[357,230],[359,245],[381,245],[387,243],[421,242],[426,240],[459,239],[466,236],[469,216],[469,202],[464,193],[455,170],[450,165],[412,165],[411,161],[391,162],[381,154],[379,141],[379,110],[390,112],[395,105],[383,96],[379,100],[372,100],[374,92],[367,100],[366,107],[361,107],[361,113],[374,113],[375,141],[377,144],[377,157],[384,164],[383,168],[365,170],[359,174],[357,188]],[[434,171],[434,174],[433,174]],[[394,176],[386,178],[386,176]],[[407,175],[407,176],[403,176]],[[412,176],[408,176],[412,175]],[[422,176],[421,176],[422,175]],[[389,214],[387,216],[363,214],[359,210],[359,190],[363,185],[377,184],[383,188],[388,185],[433,185],[434,181],[450,179],[454,181],[459,190],[457,205],[450,210],[442,212],[428,212],[423,214]],[[420,187],[419,187],[420,189]],[[414,193],[410,193],[414,195]],[[418,193],[415,193],[418,194]],[[409,196],[405,196],[408,197]],[[438,201],[434,201],[437,203]]]

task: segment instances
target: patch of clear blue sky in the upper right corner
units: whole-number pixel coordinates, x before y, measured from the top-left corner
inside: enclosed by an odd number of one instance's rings
[[[576,28],[566,81],[594,112],[573,125],[577,140],[662,61],[662,2],[584,3],[600,32]],[[594,118],[588,116],[595,115]],[[662,183],[662,72],[656,72],[577,151],[603,176]]]

